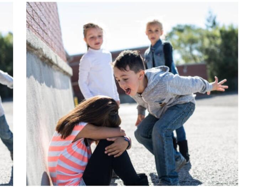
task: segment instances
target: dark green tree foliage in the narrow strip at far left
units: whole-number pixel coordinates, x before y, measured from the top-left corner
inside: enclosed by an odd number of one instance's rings
[[[25,65],[25,63],[24,63]],[[13,36],[0,33],[0,69],[13,76]],[[0,84],[1,97],[12,97],[12,90]]]

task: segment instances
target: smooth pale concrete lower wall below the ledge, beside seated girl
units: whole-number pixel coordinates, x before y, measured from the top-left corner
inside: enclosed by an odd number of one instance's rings
[[[70,76],[27,52],[27,185],[49,185],[47,152],[57,121],[74,108]]]

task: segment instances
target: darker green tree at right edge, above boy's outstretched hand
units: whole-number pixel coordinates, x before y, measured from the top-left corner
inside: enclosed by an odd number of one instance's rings
[[[227,79],[229,90],[238,89],[238,28],[230,25],[216,28],[218,39],[204,46],[205,62],[207,63],[208,75],[214,78]],[[207,32],[207,36],[214,36],[213,32]],[[210,37],[209,37],[210,38]],[[214,38],[214,37],[213,37]],[[212,81],[212,79],[211,79]]]

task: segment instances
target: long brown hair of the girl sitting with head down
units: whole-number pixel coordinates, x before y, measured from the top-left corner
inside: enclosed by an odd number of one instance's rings
[[[118,115],[118,104],[107,96],[94,96],[81,102],[66,116],[59,119],[56,131],[65,139],[79,122],[87,122],[96,126],[118,127],[121,118]]]

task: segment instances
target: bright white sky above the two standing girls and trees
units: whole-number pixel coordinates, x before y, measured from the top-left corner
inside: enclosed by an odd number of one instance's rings
[[[58,2],[64,48],[70,55],[86,51],[83,25],[88,22],[103,27],[102,47],[111,51],[148,46],[147,20],[162,21],[164,33],[177,24],[204,27],[209,10],[221,25],[238,25],[237,2]]]

